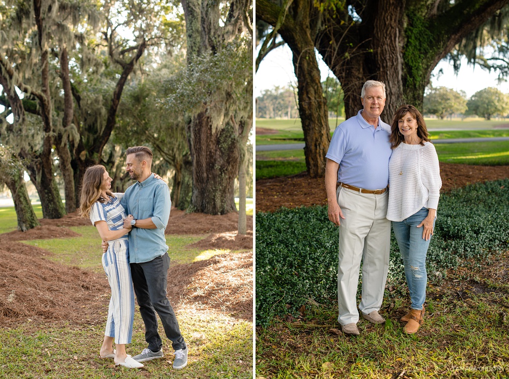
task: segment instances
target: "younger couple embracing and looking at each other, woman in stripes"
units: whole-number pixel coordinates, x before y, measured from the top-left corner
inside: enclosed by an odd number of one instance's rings
[[[103,240],[102,265],[111,287],[99,356],[128,368],[162,358],[157,312],[175,349],[173,367],[181,369],[187,365],[188,348],[166,296],[169,257],[164,230],[172,203],[168,186],[151,172],[151,164],[149,148],[127,149],[126,172],[136,183],[125,193],[111,192],[112,179],[102,165],[88,167],[83,176],[79,214],[90,218]],[[134,294],[148,347],[131,357],[125,345],[132,339]]]

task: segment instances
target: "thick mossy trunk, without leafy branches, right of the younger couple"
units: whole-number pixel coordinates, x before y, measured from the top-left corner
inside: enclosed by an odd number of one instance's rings
[[[190,75],[195,64],[213,60],[243,31],[249,0],[233,0],[225,21],[219,2],[182,0],[186,20],[187,63]],[[212,66],[211,66],[212,67]],[[212,75],[205,71],[205,74]],[[244,75],[244,73],[239,73]],[[192,162],[192,194],[189,210],[213,215],[236,212],[234,181],[239,172],[238,129],[231,115],[245,112],[236,89],[220,84],[189,114],[187,138]],[[232,84],[233,87],[233,84]],[[242,90],[240,90],[242,91]],[[252,92],[250,96],[252,105]],[[245,149],[245,147],[244,147]]]

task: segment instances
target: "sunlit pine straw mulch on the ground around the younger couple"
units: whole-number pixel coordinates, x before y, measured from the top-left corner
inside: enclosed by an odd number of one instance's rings
[[[39,220],[26,232],[0,235],[0,325],[34,323],[103,324],[110,289],[105,275],[45,259],[52,253],[20,240],[70,238],[79,234],[70,226],[90,225],[69,214],[58,220]],[[168,298],[175,309],[191,304],[201,310],[252,320],[252,217],[246,236],[237,235],[238,215],[185,214],[172,209],[166,234],[207,234],[193,247],[245,250],[191,264],[172,264],[168,271]]]

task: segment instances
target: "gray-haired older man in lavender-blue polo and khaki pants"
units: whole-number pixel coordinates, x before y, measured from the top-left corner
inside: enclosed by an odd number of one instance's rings
[[[334,131],[325,167],[328,216],[339,226],[337,320],[343,333],[350,335],[359,334],[356,296],[361,260],[359,309],[362,317],[374,324],[385,323],[378,311],[389,268],[390,126],[380,119],[385,84],[366,81],[361,101],[364,108]]]

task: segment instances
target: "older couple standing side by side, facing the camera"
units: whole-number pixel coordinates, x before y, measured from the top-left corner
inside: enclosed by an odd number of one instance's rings
[[[326,158],[329,220],[339,226],[338,322],[358,335],[357,284],[362,260],[362,318],[383,324],[382,305],[389,268],[390,225],[398,241],[410,292],[401,320],[408,334],[422,325],[426,300],[426,254],[442,181],[435,147],[422,114],[402,105],[391,125],[380,119],[385,84],[368,80],[363,109],[334,131]]]

